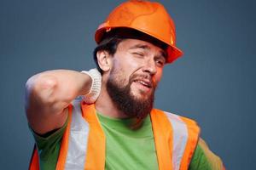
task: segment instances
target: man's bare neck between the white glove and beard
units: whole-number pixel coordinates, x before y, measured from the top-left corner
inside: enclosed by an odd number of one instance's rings
[[[108,95],[105,86],[102,86],[101,94],[96,100],[96,111],[99,111],[104,116],[109,116],[113,118],[126,118],[127,116],[122,111],[119,111],[114,105],[113,100]]]

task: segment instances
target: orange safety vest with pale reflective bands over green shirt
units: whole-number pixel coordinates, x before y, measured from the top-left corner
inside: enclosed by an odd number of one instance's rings
[[[106,137],[96,116],[95,105],[76,101],[69,105],[68,112],[70,120],[61,140],[56,169],[103,170]],[[196,122],[157,109],[153,109],[150,116],[159,169],[188,169],[199,139],[200,128]],[[39,169],[36,147],[29,169]]]

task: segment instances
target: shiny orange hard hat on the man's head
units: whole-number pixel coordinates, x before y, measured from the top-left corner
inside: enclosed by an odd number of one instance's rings
[[[121,3],[108,15],[107,20],[96,30],[95,40],[102,41],[103,35],[115,28],[130,28],[141,31],[167,44],[166,63],[172,63],[183,52],[176,47],[175,26],[166,8],[160,3],[130,0]]]

